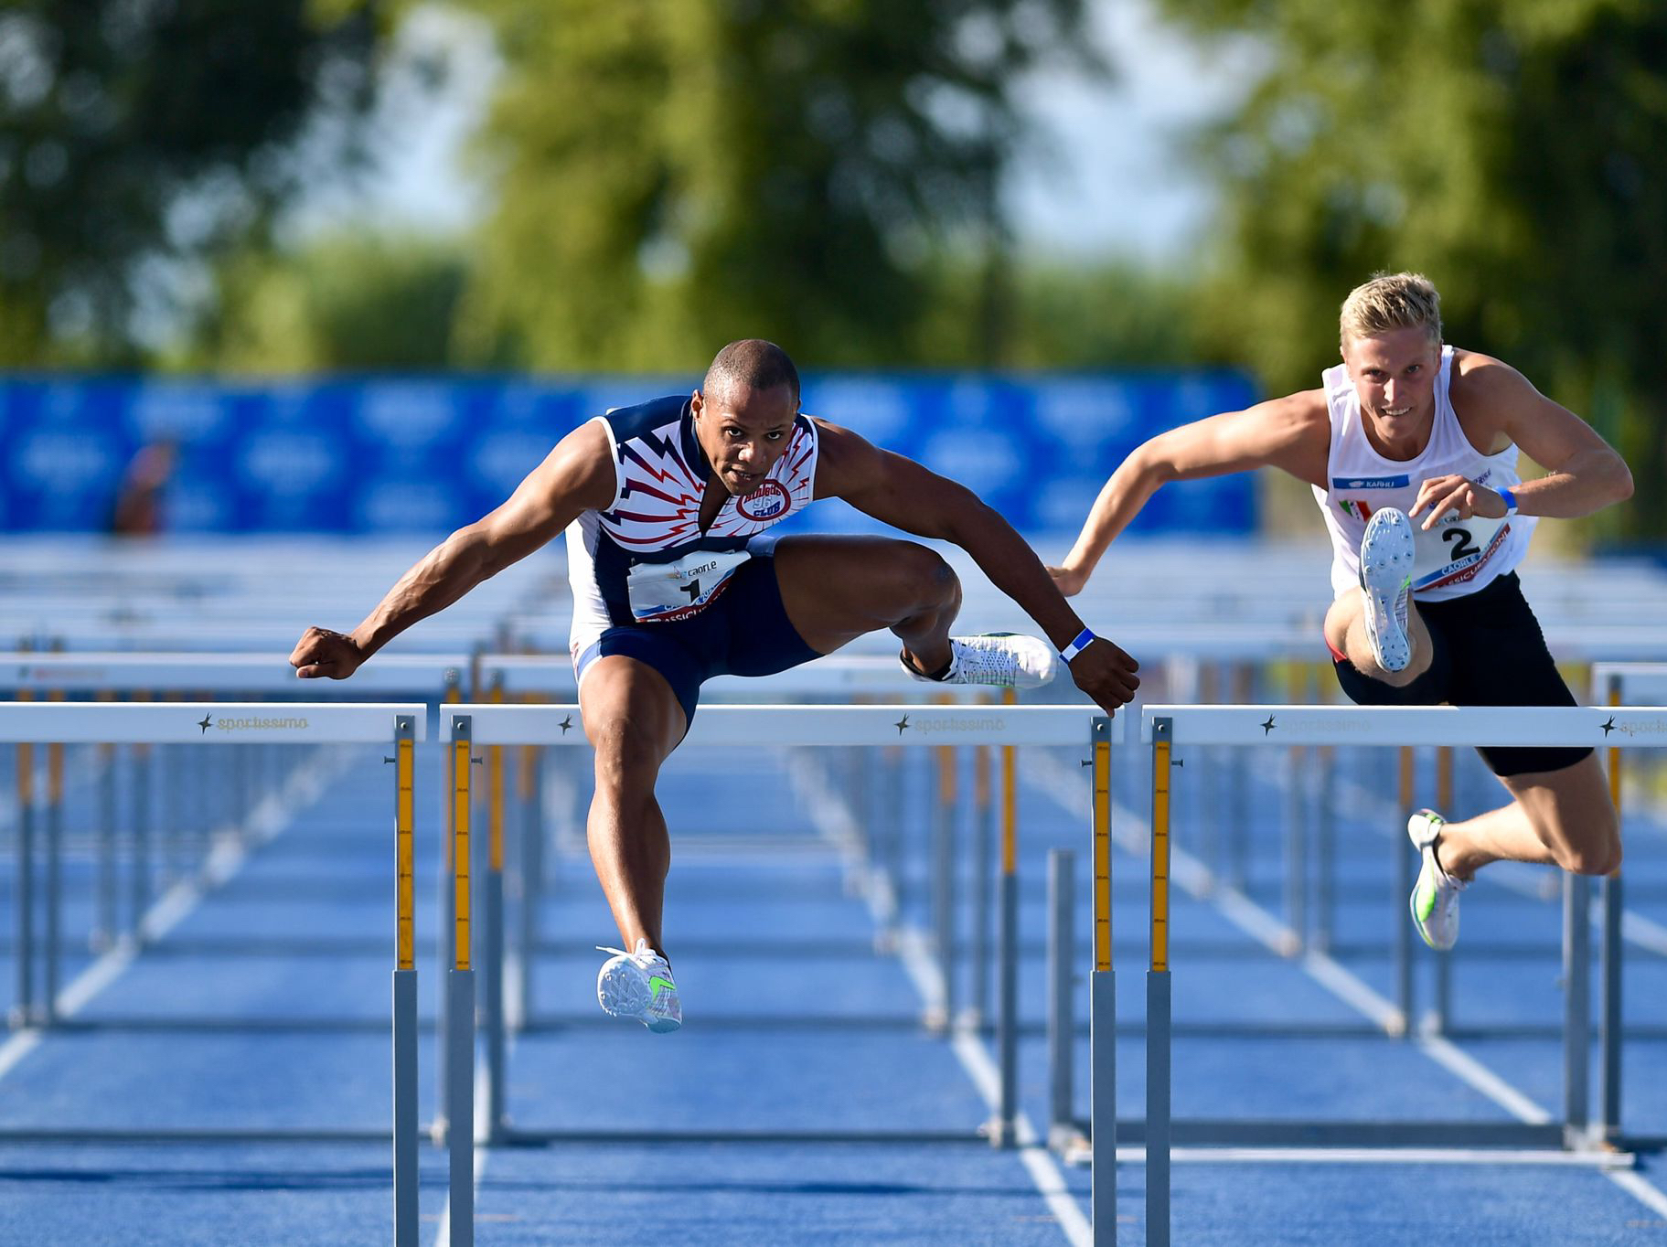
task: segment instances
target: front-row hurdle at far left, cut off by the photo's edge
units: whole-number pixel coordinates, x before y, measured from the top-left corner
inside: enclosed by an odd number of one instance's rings
[[[417,1247],[417,970],[412,960],[413,745],[422,704],[0,702],[0,742],[97,745],[392,745],[395,757],[393,1242]],[[32,870],[23,862],[23,874]],[[20,884],[22,885],[22,884]],[[20,914],[27,905],[20,905]],[[20,922],[27,922],[20,919]],[[28,935],[18,949],[28,955]]]

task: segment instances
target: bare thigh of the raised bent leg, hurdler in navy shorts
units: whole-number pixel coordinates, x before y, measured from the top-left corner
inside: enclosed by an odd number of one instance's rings
[[[783,537],[773,553],[787,617],[817,654],[890,627],[947,593],[959,595],[955,572],[919,542]]]

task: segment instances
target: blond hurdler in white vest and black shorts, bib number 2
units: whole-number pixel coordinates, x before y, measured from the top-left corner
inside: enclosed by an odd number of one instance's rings
[[[1277,467],[1314,487],[1332,537],[1325,644],[1367,705],[1575,705],[1515,567],[1540,517],[1632,495],[1632,473],[1580,417],[1515,368],[1442,345],[1440,297],[1417,273],[1344,302],[1342,358],[1324,385],[1212,415],[1139,447],[1112,473],[1064,565],[1082,588],[1107,545],[1169,480]],[[1522,482],[1519,447],[1547,475]],[[1489,862],[1607,874],[1620,862],[1609,785],[1589,749],[1484,749],[1512,800],[1464,822],[1417,810],[1410,897],[1437,949],[1459,934],[1459,892]]]

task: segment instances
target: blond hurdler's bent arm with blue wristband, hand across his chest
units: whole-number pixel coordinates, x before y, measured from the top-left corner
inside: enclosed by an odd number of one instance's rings
[[[1467,353],[1462,368],[1454,395],[1464,403],[1467,428],[1475,422],[1482,433],[1504,433],[1545,468],[1539,480],[1512,490],[1524,515],[1572,520],[1632,497],[1627,462],[1592,425],[1547,398],[1509,363]],[[1457,512],[1462,520],[1472,515],[1497,520],[1505,513],[1505,500],[1464,477],[1432,477],[1419,488],[1412,515],[1422,515],[1429,528],[1445,512]]]

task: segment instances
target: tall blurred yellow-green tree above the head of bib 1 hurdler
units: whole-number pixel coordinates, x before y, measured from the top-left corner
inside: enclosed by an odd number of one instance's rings
[[[770,333],[912,355],[945,237],[999,240],[1014,78],[1082,0],[475,0],[505,62],[465,353],[690,368]]]

